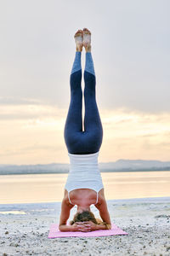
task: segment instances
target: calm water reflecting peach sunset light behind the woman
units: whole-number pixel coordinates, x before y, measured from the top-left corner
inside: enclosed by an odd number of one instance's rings
[[[170,196],[170,172],[102,172],[106,200]],[[0,203],[61,201],[67,174],[0,175]]]

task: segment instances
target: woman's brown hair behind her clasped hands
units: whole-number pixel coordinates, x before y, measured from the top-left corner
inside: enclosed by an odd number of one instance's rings
[[[70,224],[75,224],[76,222],[92,221],[94,224],[101,224],[102,221],[98,218],[95,218],[94,213],[90,211],[77,212],[71,220]]]

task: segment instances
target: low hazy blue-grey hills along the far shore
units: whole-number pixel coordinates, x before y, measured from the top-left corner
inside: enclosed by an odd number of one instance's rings
[[[100,172],[170,171],[170,162],[159,160],[117,160],[116,162],[99,163],[99,170]],[[67,172],[69,172],[68,164],[0,165],[0,175]]]

